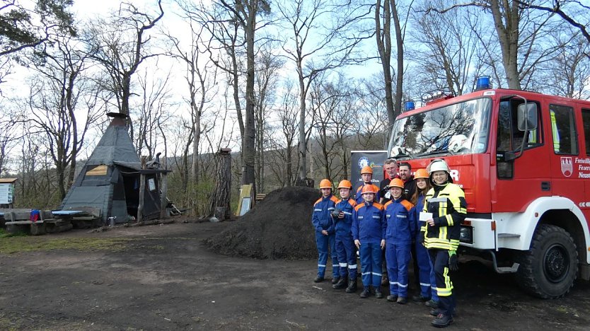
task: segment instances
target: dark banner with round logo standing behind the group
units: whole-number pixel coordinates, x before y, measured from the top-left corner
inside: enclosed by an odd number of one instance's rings
[[[361,169],[365,165],[373,168],[373,184],[379,187],[383,180],[383,163],[387,158],[387,151],[351,151],[351,169],[350,182],[352,182],[352,192],[357,192],[357,188],[362,185]]]

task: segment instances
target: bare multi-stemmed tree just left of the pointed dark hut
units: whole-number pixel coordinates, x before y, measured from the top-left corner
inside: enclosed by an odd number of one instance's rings
[[[86,133],[100,119],[100,90],[83,76],[88,58],[79,46],[70,38],[59,40],[35,64],[38,75],[30,88],[30,112],[23,118],[47,137],[60,199],[74,180],[76,157]]]

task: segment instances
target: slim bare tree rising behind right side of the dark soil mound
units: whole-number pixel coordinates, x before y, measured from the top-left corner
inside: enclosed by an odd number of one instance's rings
[[[359,26],[369,10],[349,1],[285,1],[278,6],[291,35],[283,46],[294,62],[299,82],[299,180],[307,177],[306,98],[311,83],[324,71],[357,63],[357,45],[372,35]],[[321,23],[320,23],[321,22]]]

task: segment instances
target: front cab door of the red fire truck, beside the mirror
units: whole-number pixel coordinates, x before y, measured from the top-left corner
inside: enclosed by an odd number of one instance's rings
[[[543,148],[543,121],[540,120],[540,105],[537,104],[537,129],[528,134],[518,129],[517,108],[524,101],[520,98],[502,100],[499,105],[496,141],[496,178],[492,182],[492,212],[523,211],[540,196],[551,194],[549,178],[550,163]],[[518,151],[523,139],[524,150],[514,160],[507,154]],[[492,178],[494,176],[492,175]],[[495,184],[495,185],[494,185]]]

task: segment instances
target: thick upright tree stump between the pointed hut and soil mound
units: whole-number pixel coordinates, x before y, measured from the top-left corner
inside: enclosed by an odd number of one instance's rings
[[[209,204],[209,215],[224,221],[230,217],[231,149],[220,149],[216,153],[216,163],[216,184]]]

